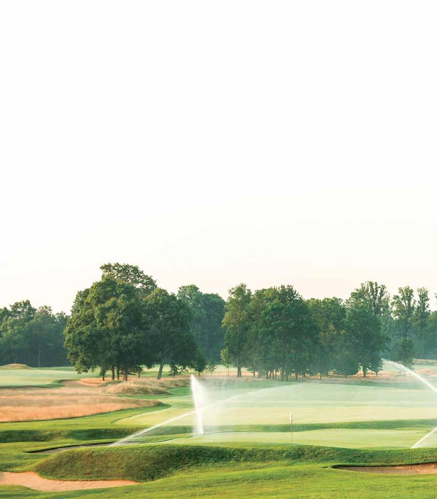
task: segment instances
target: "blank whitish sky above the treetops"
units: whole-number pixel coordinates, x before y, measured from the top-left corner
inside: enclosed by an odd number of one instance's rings
[[[436,14],[4,0],[0,307],[68,312],[108,262],[224,298],[366,280],[433,296]]]

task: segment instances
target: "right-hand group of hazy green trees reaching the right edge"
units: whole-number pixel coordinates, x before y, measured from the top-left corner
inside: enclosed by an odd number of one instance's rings
[[[223,318],[222,361],[245,367],[254,376],[289,376],[330,372],[378,375],[382,358],[410,366],[414,355],[437,356],[437,312],[429,293],[399,288],[390,297],[386,287],[368,281],[347,300],[305,300],[293,286],[257,290],[245,284],[230,290]]]

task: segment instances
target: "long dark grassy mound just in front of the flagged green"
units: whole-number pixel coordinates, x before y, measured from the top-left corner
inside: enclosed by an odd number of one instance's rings
[[[412,464],[435,462],[433,449],[369,451],[317,446],[230,448],[210,446],[126,446],[77,449],[54,454],[35,466],[47,478],[150,481],[198,466],[232,463]]]

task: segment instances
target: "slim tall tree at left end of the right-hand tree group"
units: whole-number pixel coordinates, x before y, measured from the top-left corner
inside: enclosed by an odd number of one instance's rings
[[[225,328],[225,345],[237,367],[237,378],[241,378],[241,367],[244,363],[243,352],[249,329],[251,295],[251,290],[245,284],[230,289],[222,322]]]

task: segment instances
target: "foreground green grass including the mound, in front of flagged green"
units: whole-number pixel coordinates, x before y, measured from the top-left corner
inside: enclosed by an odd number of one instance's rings
[[[148,446],[68,451],[34,463],[57,478],[131,478],[146,482],[114,490],[39,493],[0,487],[0,498],[145,499],[185,497],[434,499],[437,476],[383,476],[332,469],[334,464],[399,464],[435,460],[433,450],[363,451],[296,446],[263,449]],[[30,463],[27,463],[28,467]],[[32,467],[32,466],[31,466]],[[364,493],[365,491],[365,493]]]

